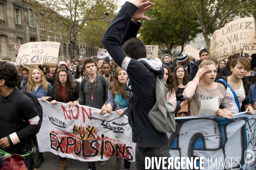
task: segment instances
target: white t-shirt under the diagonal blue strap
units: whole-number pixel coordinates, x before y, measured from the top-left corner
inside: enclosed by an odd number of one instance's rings
[[[235,101],[235,98],[234,98],[234,95],[233,93],[231,92],[230,88],[227,87],[227,105],[228,105],[228,110],[231,112],[231,113],[238,113],[239,112],[239,109],[236,105],[236,101]],[[239,106],[241,108],[242,106],[242,101],[244,101],[245,99],[245,92],[244,92],[244,84],[243,84],[243,81],[241,80],[241,86],[238,90],[234,90],[234,92],[236,93],[236,96],[238,98],[238,101],[239,101]]]

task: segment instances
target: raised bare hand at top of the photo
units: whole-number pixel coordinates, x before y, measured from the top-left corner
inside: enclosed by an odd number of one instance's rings
[[[137,23],[138,20],[149,20],[148,17],[144,16],[144,13],[154,6],[154,3],[151,3],[151,0],[134,0],[132,3],[137,6],[138,9],[131,20],[134,23]]]

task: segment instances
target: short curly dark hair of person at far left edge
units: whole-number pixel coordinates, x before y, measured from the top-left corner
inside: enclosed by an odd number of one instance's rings
[[[5,63],[0,65],[0,80],[2,79],[5,80],[5,85],[10,88],[18,86],[20,76],[13,64]]]

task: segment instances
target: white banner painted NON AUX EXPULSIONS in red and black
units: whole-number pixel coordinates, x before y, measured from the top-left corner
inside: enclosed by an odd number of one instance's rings
[[[92,107],[40,103],[44,111],[43,124],[37,134],[40,152],[52,152],[79,161],[108,160],[114,155],[135,161],[136,144],[131,141],[131,127],[126,124],[125,116],[108,122],[119,114],[100,116],[100,109]],[[88,119],[88,116],[106,121]]]

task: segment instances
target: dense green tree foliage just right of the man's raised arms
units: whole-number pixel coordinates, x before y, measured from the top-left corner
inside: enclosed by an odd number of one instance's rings
[[[143,26],[140,31],[143,41],[147,44],[164,43],[168,47],[168,53],[171,52],[173,45],[182,46],[189,40],[188,36],[201,32],[199,24],[192,22],[196,18],[190,17],[187,12],[182,12],[182,17],[177,17],[172,13],[175,11],[163,10],[165,7],[164,0],[156,0],[155,6],[146,12],[149,21],[142,21]],[[189,18],[186,20],[185,18]],[[191,21],[190,21],[191,20]]]

